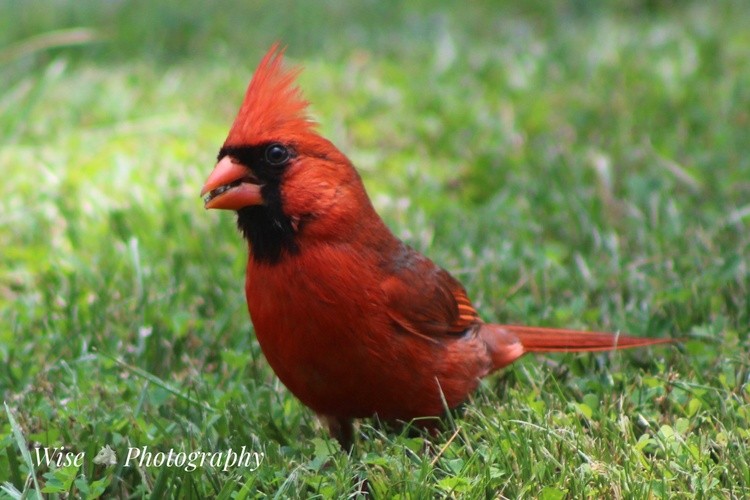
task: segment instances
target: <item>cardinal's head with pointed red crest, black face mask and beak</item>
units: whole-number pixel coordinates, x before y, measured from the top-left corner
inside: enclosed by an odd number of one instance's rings
[[[345,233],[360,207],[371,209],[354,167],[315,130],[299,69],[285,69],[283,54],[274,45],[258,65],[201,190],[206,208],[237,211],[252,257],[270,263],[296,253],[303,233]]]

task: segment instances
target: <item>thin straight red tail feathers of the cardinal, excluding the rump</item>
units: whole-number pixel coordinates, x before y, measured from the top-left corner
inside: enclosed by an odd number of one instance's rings
[[[584,332],[532,326],[502,325],[523,345],[524,352],[594,352],[669,344],[674,339],[633,337],[617,333]]]

